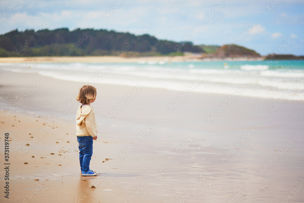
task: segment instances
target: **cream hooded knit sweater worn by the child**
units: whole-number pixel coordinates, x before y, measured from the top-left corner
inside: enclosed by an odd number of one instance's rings
[[[97,123],[91,105],[78,107],[76,114],[76,136],[97,136]]]

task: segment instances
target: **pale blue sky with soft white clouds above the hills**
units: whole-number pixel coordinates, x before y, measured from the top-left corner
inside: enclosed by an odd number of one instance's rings
[[[304,55],[304,0],[1,0],[0,34],[93,28]]]

